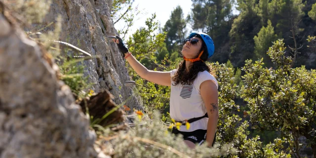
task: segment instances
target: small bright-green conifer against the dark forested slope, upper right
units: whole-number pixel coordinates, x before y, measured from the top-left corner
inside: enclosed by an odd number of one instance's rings
[[[258,36],[255,36],[253,40],[255,40],[255,58],[264,58],[264,63],[266,67],[271,67],[272,62],[267,55],[266,50],[273,44],[272,42],[277,39],[277,35],[275,34],[274,27],[270,20],[268,20],[268,26],[262,27]]]

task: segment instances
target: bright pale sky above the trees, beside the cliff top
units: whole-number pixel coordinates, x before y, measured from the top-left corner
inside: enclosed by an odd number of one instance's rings
[[[156,12],[156,20],[160,22],[161,27],[164,26],[166,21],[170,18],[171,11],[173,11],[178,5],[181,6],[184,18],[191,12],[192,1],[191,0],[135,0],[133,8],[138,5],[138,9],[145,12],[145,14],[139,15],[138,20],[135,21],[134,25],[129,29],[129,35],[134,33],[137,29],[145,25],[147,18],[151,17]],[[123,20],[120,20],[115,24],[115,28],[121,30],[124,27]],[[189,26],[190,27],[190,26]],[[191,28],[188,28],[189,30]]]

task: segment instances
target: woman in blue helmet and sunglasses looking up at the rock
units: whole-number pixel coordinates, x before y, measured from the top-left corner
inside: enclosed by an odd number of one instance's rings
[[[173,128],[172,133],[182,134],[185,143],[192,149],[205,141],[209,147],[212,146],[219,116],[218,83],[204,61],[214,53],[213,40],[207,34],[192,33],[184,41],[184,60],[178,69],[170,72],[148,70],[131,55],[118,36],[116,42],[141,78],[171,86],[170,117],[183,123],[180,130]],[[185,120],[190,122],[189,129],[184,125]]]

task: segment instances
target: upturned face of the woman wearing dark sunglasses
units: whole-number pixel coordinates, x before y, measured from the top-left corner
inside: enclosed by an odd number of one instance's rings
[[[195,44],[192,44],[191,40],[198,40],[198,42]],[[202,40],[197,37],[193,37],[183,45],[182,54],[188,59],[195,59],[200,53],[199,50],[201,49],[201,46],[202,46]]]

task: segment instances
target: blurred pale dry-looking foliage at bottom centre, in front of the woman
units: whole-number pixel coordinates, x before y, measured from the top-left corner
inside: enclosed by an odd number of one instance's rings
[[[236,152],[228,152],[231,145],[208,148],[206,143],[191,150],[183,142],[181,135],[171,135],[167,131],[168,126],[161,125],[163,122],[158,113],[154,114],[152,120],[142,120],[144,121],[147,122],[145,125],[136,125],[127,132],[114,133],[116,136],[110,140],[112,145],[104,144],[105,149],[114,147],[116,158],[210,158]],[[139,124],[140,121],[135,119],[135,122]],[[104,130],[102,135],[110,136],[110,131]]]

